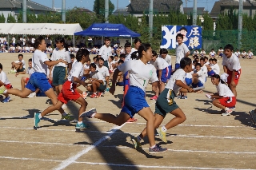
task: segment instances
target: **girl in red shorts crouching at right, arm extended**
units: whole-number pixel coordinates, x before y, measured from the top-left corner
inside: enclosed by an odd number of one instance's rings
[[[206,97],[213,99],[213,105],[222,109],[222,116],[230,116],[230,113],[233,112],[231,108],[234,108],[237,101],[234,93],[231,92],[229,87],[221,80],[218,74],[214,74],[211,77],[211,82],[213,85],[216,85],[217,93],[206,94]]]

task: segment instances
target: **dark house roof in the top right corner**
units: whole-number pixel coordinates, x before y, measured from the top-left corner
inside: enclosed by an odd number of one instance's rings
[[[243,7],[254,6],[256,9],[256,1],[252,1],[252,0],[243,1],[242,5],[243,5]],[[218,2],[215,2],[213,9],[210,11],[210,16],[218,17],[218,14],[221,13],[222,7],[227,8],[227,7],[231,7],[231,6],[238,8],[239,1],[238,0],[220,0]]]

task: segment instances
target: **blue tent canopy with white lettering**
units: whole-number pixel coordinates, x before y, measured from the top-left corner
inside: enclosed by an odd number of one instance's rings
[[[122,24],[94,23],[86,30],[74,33],[82,36],[126,37],[138,38],[141,34],[129,30]]]

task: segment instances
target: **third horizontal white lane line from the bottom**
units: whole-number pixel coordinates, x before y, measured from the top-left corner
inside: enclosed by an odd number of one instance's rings
[[[17,127],[6,127],[6,126],[0,126],[0,128],[11,128],[11,129],[25,129],[25,130],[31,130],[33,128],[17,128]],[[67,129],[50,129],[50,128],[38,128],[38,130],[46,130],[46,131],[65,131],[65,132],[74,132],[74,130],[67,130]],[[97,133],[105,133],[105,134],[111,134],[112,131],[107,132],[100,132],[100,131],[86,131],[86,132],[97,132]],[[130,134],[130,135],[139,135],[138,132],[115,132],[116,134]],[[202,136],[202,135],[179,135],[179,134],[168,134],[167,136],[177,136],[177,137],[192,137],[192,138],[217,138],[217,139],[237,139],[237,140],[256,140],[256,137],[239,137],[239,136]]]

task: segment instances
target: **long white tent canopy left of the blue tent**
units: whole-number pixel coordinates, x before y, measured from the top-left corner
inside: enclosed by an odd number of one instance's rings
[[[79,24],[0,23],[0,34],[74,35],[78,31],[82,31]]]

